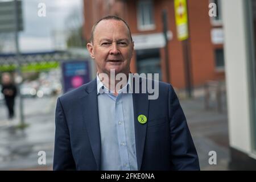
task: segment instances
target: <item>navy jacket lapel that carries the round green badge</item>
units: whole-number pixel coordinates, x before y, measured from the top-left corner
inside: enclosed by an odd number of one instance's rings
[[[140,81],[141,85],[141,81]],[[133,93],[133,108],[134,108],[134,129],[135,129],[135,144],[138,170],[141,169],[144,143],[147,131],[147,122],[141,124],[138,122],[138,116],[143,114],[148,119],[148,94],[147,93]]]

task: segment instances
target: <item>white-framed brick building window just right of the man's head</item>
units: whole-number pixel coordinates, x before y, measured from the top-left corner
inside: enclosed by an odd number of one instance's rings
[[[140,0],[137,5],[138,30],[154,30],[154,13],[152,0]]]

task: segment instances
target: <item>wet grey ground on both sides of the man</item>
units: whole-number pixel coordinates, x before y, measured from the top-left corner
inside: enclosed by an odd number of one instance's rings
[[[0,170],[52,170],[56,98],[25,98],[24,115],[28,127],[24,130],[15,129],[18,119],[7,121],[5,106],[0,105]],[[222,113],[218,113],[214,98],[212,107],[204,109],[202,89],[195,92],[193,99],[183,96],[179,98],[199,155],[201,170],[228,170],[229,141],[225,97],[222,101]],[[18,99],[15,110],[18,111]],[[39,151],[46,152],[46,165],[38,164]],[[208,162],[210,151],[216,151],[216,165]]]

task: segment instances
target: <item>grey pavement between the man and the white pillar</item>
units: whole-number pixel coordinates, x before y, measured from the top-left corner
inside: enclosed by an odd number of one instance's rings
[[[201,170],[229,170],[229,137],[226,97],[222,99],[222,112],[217,111],[214,98],[210,109],[204,108],[204,97],[191,100],[180,100],[181,107],[187,118],[189,130],[199,155]],[[209,164],[210,151],[215,151],[217,164]]]

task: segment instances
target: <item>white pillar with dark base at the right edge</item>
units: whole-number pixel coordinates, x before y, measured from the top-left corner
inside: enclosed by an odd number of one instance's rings
[[[233,170],[256,168],[255,67],[253,66],[255,43],[251,41],[255,29],[252,28],[251,2],[222,1],[229,118],[229,166]]]

